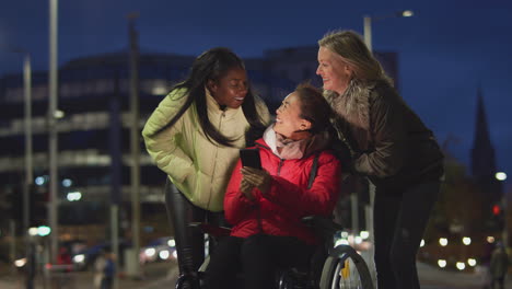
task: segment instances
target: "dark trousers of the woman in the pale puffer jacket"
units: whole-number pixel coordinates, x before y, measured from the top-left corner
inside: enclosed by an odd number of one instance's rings
[[[165,207],[174,227],[179,274],[195,274],[205,261],[205,233],[188,224],[208,222],[225,226],[223,212],[211,212],[195,206],[168,180],[165,184]],[[214,241],[210,238],[209,250],[213,247]]]

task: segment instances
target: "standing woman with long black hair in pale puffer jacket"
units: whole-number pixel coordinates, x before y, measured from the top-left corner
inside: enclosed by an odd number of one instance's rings
[[[168,175],[165,199],[182,275],[193,276],[205,258],[203,233],[188,224],[221,222],[238,149],[263,134],[269,119],[267,106],[249,88],[243,61],[222,47],[197,57],[187,79],[148,119],[142,136],[149,154]]]

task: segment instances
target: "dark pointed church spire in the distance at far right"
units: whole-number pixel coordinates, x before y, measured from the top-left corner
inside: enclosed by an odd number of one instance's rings
[[[475,119],[475,138],[472,149],[472,173],[475,177],[490,176],[496,173],[494,148],[492,147],[487,124],[484,95],[478,86]]]

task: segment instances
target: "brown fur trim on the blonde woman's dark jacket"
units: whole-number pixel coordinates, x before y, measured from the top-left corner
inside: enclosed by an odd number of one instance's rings
[[[352,79],[344,94],[324,91],[325,99],[333,109],[350,125],[369,130],[370,128],[370,94],[376,81],[364,82]]]

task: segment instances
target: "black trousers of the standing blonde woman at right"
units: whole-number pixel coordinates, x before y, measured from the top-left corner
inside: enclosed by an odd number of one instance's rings
[[[373,226],[379,289],[420,288],[416,254],[439,190],[439,182],[405,192],[376,187]]]

